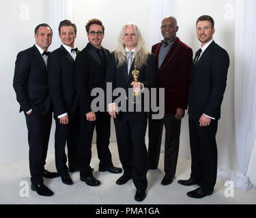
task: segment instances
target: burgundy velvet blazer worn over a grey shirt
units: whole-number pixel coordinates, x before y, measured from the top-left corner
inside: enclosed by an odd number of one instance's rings
[[[161,46],[162,42],[152,46],[157,65]],[[177,37],[158,69],[156,80],[157,88],[165,88],[165,116],[175,114],[177,108],[186,110],[192,65],[192,49]]]

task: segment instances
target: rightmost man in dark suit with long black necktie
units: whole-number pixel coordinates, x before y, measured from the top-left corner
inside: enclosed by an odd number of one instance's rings
[[[188,191],[191,198],[203,198],[214,191],[217,176],[216,132],[226,88],[229,55],[212,39],[214,20],[207,15],[197,19],[197,51],[188,97],[191,174],[182,185],[199,185]]]

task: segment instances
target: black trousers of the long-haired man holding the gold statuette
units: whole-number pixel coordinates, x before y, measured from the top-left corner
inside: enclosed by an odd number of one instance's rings
[[[147,148],[145,132],[147,119],[130,121],[114,119],[119,159],[124,175],[132,177],[137,189],[147,189]]]

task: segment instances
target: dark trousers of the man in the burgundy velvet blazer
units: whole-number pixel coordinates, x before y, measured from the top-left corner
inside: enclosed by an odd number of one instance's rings
[[[165,124],[165,165],[167,176],[175,176],[177,156],[180,146],[181,120],[175,120],[174,115],[164,116],[162,119],[149,119],[149,145],[147,151],[147,164],[149,168],[158,168],[160,148],[162,141],[162,128]]]

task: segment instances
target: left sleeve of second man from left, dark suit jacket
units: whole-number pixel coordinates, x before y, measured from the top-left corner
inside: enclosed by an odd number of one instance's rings
[[[61,87],[61,63],[57,55],[53,53],[49,55],[47,63],[49,92],[53,102],[55,114],[59,116],[67,112]]]

